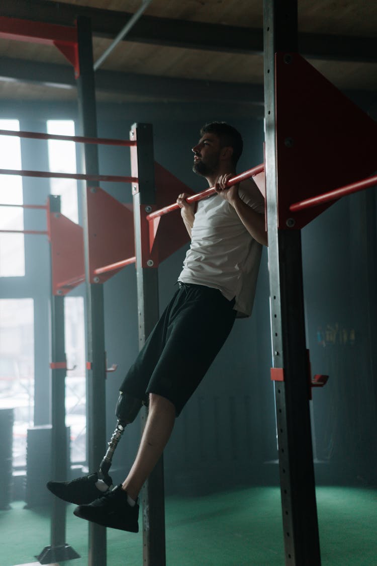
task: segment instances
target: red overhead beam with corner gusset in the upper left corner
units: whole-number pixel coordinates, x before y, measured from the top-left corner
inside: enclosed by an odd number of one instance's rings
[[[0,16],[0,38],[55,45],[73,65],[76,79],[80,75],[76,27]]]

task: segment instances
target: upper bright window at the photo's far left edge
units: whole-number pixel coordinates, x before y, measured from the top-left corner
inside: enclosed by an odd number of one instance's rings
[[[18,120],[0,120],[0,129],[19,130]],[[20,138],[0,136],[0,169],[22,169]],[[0,205],[23,204],[22,178],[1,175]],[[23,230],[23,209],[0,206],[0,230]],[[0,277],[25,275],[24,234],[0,233]]]

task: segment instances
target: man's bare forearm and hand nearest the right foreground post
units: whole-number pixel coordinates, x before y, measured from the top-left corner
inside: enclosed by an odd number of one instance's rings
[[[232,176],[231,174],[220,175],[218,181],[215,183],[216,192],[232,205],[249,234],[252,235],[257,242],[262,244],[262,246],[268,246],[268,237],[265,230],[265,215],[254,211],[253,208],[249,207],[249,205],[241,199],[239,195],[239,184],[226,188],[226,183],[229,177]]]

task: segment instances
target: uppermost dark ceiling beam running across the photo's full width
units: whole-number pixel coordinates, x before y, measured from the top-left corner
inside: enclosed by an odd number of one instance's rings
[[[73,25],[77,15],[92,19],[93,35],[114,38],[133,14],[103,10],[51,0],[2,0],[0,15]],[[224,29],[226,33],[224,33]],[[227,53],[262,55],[262,29],[188,22],[143,15],[124,41],[170,45],[185,49],[204,49]],[[350,37],[320,33],[300,33],[300,53],[309,59],[377,62],[376,37]]]

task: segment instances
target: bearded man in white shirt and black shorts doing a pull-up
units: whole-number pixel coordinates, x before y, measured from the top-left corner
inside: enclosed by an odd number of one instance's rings
[[[207,124],[192,151],[193,171],[205,177],[216,194],[201,200],[196,212],[185,200],[188,195],[180,194],[177,199],[192,239],[178,278],[179,289],[120,387],[131,398],[149,402],[135,462],[123,484],[111,491],[101,481],[89,487],[90,476],[66,482],[59,490],[59,482],[49,484],[55,495],[73,503],[79,498],[67,496],[68,491],[90,488],[94,501],[73,512],[115,529],[138,531],[141,487],[170,438],[175,418],[224,344],[237,313],[250,315],[262,245],[267,245],[264,200],[255,183],[248,179],[226,187],[242,153],[239,132],[224,122]]]

